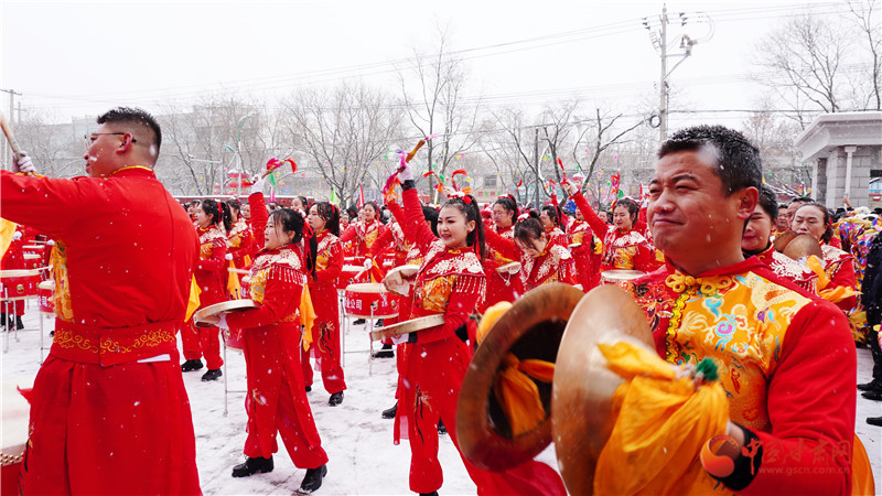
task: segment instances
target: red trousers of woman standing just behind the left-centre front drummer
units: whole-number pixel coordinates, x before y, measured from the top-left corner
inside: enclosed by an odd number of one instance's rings
[[[324,288],[310,288],[315,322],[312,325],[312,346],[308,352],[300,346],[300,362],[303,368],[303,381],[312,386],[312,366],[310,355],[322,373],[322,382],[330,393],[346,389],[343,367],[340,365],[340,304],[337,290],[333,284]]]

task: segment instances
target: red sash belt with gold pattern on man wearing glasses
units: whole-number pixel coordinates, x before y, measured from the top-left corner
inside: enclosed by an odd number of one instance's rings
[[[135,327],[95,327],[55,320],[50,356],[101,367],[138,362],[176,351],[181,322],[165,321]]]

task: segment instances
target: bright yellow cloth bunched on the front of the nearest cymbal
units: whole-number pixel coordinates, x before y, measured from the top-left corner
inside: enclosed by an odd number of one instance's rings
[[[613,397],[617,416],[594,470],[599,495],[689,494],[703,468],[704,442],[725,434],[729,403],[717,382],[698,389],[691,378],[648,347],[619,342],[598,345],[607,367],[625,379]]]

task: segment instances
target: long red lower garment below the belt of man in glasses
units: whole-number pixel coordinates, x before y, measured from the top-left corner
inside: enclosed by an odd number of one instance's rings
[[[178,354],[111,367],[50,356],[34,381],[23,494],[201,494]]]

